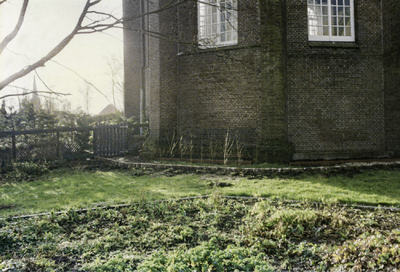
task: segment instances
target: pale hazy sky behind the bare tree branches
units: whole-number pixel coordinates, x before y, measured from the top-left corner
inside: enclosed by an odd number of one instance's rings
[[[1,40],[14,28],[22,2],[22,0],[9,0],[0,5]],[[31,0],[20,33],[9,44],[8,50],[0,56],[0,80],[40,59],[68,35],[74,28],[85,2],[84,0]],[[121,0],[102,0],[92,9],[120,17],[122,3]],[[89,111],[97,114],[109,103],[114,102],[111,68],[108,63],[114,63],[114,68],[119,69],[122,77],[122,46],[120,29],[109,30],[106,33],[78,35],[54,58],[56,62],[74,72],[51,61],[37,72],[52,90],[71,94],[63,99],[71,101],[73,109],[81,107],[86,111],[86,93],[89,88]],[[94,84],[109,101],[94,88],[88,87],[75,72]],[[32,89],[33,77],[32,72],[12,85]],[[36,82],[39,91],[47,91],[38,78]],[[8,87],[7,90],[0,91],[0,96],[15,92],[17,88]],[[122,110],[122,93],[116,88],[115,100],[117,108]],[[7,103],[15,104],[16,100],[14,102],[8,100]]]

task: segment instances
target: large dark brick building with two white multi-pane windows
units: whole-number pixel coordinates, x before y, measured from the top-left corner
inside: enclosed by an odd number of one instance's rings
[[[294,160],[399,156],[399,14],[398,0],[124,0],[125,113],[156,139],[229,130]]]

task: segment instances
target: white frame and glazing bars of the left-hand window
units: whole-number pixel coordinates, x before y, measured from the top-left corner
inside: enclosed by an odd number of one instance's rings
[[[197,38],[198,38],[198,42],[200,45],[200,48],[215,48],[215,47],[219,47],[219,46],[232,46],[232,45],[237,45],[238,44],[238,40],[239,40],[239,34],[238,34],[238,12],[237,12],[237,5],[238,5],[238,0],[231,0],[231,2],[233,3],[233,7],[230,9],[234,12],[234,14],[231,14],[231,16],[235,16],[236,20],[234,21],[234,24],[236,23],[236,29],[235,26],[232,26],[233,31],[232,34],[235,33],[236,34],[236,39],[232,39],[231,41],[221,41],[221,13],[222,8],[221,8],[221,1],[220,0],[216,0],[216,5],[217,5],[217,32],[215,34],[215,42],[206,42],[206,39],[209,39],[209,37],[206,36],[206,34],[202,34],[201,33],[201,28],[205,28],[207,26],[206,23],[204,23],[204,25],[202,25],[201,23],[201,18],[202,17],[207,17],[210,15],[201,15],[201,8],[202,5],[204,6],[212,6],[213,4],[210,3],[212,0],[203,0],[203,1],[198,1],[197,2]],[[228,1],[228,0],[225,0]],[[234,6],[234,3],[236,2],[236,6]],[[227,9],[228,10],[228,9]],[[225,21],[226,23],[231,24],[231,22],[229,21]],[[225,27],[225,33],[227,33],[226,27]],[[203,36],[204,35],[204,36]]]

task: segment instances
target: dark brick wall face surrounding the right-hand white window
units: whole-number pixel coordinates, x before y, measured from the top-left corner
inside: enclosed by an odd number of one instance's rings
[[[354,43],[309,42],[307,1],[287,0],[288,133],[298,159],[385,151],[380,1],[355,3]]]

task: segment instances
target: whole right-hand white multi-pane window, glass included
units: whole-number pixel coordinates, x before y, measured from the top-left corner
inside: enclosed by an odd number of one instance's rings
[[[354,42],[354,0],[307,0],[310,41]]]

